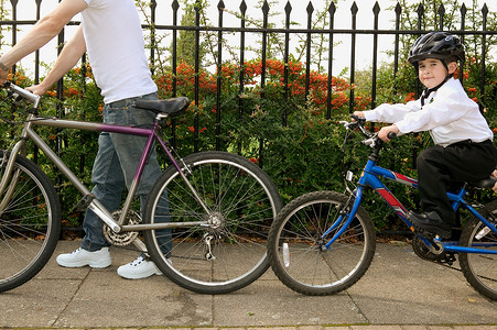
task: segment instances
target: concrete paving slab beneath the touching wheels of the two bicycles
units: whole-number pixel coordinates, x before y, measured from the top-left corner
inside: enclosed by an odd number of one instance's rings
[[[269,272],[272,273],[272,272]],[[272,275],[272,274],[269,274]],[[267,278],[269,278],[269,275]],[[277,277],[214,297],[215,327],[363,323],[366,319],[346,294],[303,296]],[[271,277],[272,277],[271,276]]]

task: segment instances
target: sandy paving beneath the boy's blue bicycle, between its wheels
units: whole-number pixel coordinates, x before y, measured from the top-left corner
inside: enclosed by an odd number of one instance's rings
[[[496,323],[497,302],[460,274],[419,258],[410,246],[379,244],[371,267],[348,293],[370,323]]]

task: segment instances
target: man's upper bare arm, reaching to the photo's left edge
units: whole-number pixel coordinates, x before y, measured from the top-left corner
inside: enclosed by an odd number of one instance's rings
[[[75,14],[87,7],[88,4],[84,0],[62,0],[51,13],[41,19],[12,50],[0,58],[0,84],[7,80],[9,68],[50,42]]]

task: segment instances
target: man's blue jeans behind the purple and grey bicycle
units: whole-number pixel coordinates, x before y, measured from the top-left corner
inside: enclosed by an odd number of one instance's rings
[[[156,94],[150,94],[142,98],[158,99],[158,96]],[[151,128],[155,114],[151,111],[134,108],[133,101],[136,99],[130,98],[106,105],[104,107],[104,123]],[[120,209],[125,186],[129,188],[131,185],[145,143],[147,138],[143,136],[100,133],[98,138],[98,153],[91,172],[91,182],[94,184],[91,193],[108,211],[114,212]],[[153,148],[137,190],[142,210],[147,194],[159,179],[161,173],[156,152]],[[161,209],[165,209],[169,212],[166,199],[163,199],[161,202],[163,204]],[[143,212],[141,213],[143,215]],[[169,219],[161,219],[161,221],[169,221]],[[83,222],[85,237],[82,241],[82,248],[84,250],[94,252],[110,245],[104,237],[102,224],[104,222],[93,211],[87,210]],[[162,234],[163,237],[163,242],[161,242],[163,253],[170,253],[171,251],[170,232],[170,230],[158,231],[158,235]]]

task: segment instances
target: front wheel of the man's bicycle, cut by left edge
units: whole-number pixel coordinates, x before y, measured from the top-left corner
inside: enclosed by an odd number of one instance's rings
[[[0,151],[0,158],[3,154]],[[3,177],[4,164],[0,170]],[[48,262],[61,234],[58,195],[46,174],[18,155],[7,189],[12,180],[17,183],[12,198],[0,212],[0,292],[33,278]]]

